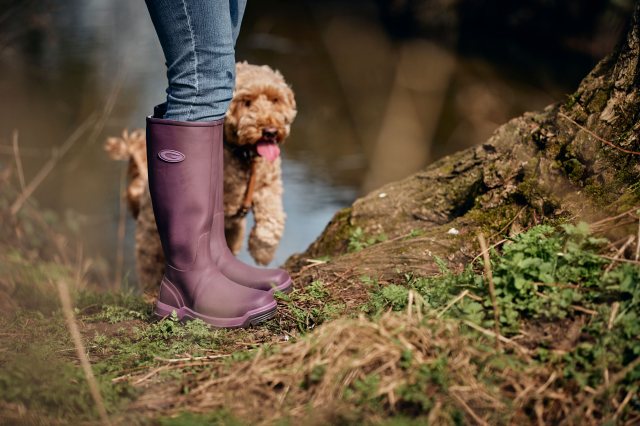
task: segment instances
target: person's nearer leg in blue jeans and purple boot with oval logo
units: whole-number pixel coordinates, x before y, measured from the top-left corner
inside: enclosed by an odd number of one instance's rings
[[[226,277],[211,253],[214,197],[222,192],[223,118],[235,81],[230,4],[147,5],[169,78],[166,104],[147,117],[149,193],[165,256],[155,312],[217,327],[258,324],[275,314],[273,295]]]

